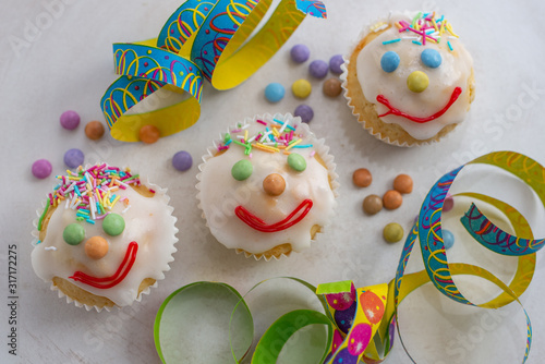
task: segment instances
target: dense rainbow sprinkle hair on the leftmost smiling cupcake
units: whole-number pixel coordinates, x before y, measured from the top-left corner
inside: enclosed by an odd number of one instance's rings
[[[131,205],[126,197],[121,198],[116,191],[126,190],[131,184],[141,184],[138,174],[131,174],[130,169],[121,170],[107,163],[95,165],[87,170],[80,166],[75,172],[66,170],[66,173],[56,177],[60,183],[48,194],[45,210],[64,203],[64,208],[76,211],[77,221],[92,225],[104,219],[118,203],[126,206],[121,213],[124,214]],[[41,223],[38,230],[40,228]]]

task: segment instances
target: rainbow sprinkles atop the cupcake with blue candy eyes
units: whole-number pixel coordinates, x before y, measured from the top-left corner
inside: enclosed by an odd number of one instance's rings
[[[380,26],[377,27],[375,25],[372,27],[373,32],[378,32],[383,28],[384,23],[378,24]],[[401,39],[409,39],[415,45],[425,46],[426,41],[438,44],[441,37],[448,37],[447,39],[459,38],[459,36],[455,33],[452,25],[445,19],[445,15],[436,19],[435,12],[419,12],[410,23],[408,21],[399,21],[396,22],[395,25],[399,29],[399,33],[403,33],[405,35],[402,35],[400,38],[383,41],[383,45],[393,44]],[[450,45],[450,41],[448,41],[448,46],[449,50],[452,51],[453,48]]]

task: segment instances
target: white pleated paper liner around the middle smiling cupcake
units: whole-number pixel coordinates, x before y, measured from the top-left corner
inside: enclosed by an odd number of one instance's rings
[[[298,132],[303,130],[304,134],[305,135],[308,135],[311,136],[312,138],[314,138],[313,141],[313,148],[314,150],[316,151],[317,155],[319,155],[319,157],[322,158],[322,160],[324,161],[324,163],[326,165],[326,169],[327,169],[327,172],[328,172],[328,175],[329,175],[329,184],[330,184],[330,187],[331,187],[331,191],[334,193],[334,196],[335,196],[335,201],[334,201],[334,210],[336,209],[337,207],[337,197],[339,195],[338,193],[338,189],[339,189],[339,182],[338,182],[338,178],[339,175],[336,173],[336,168],[337,168],[337,165],[335,163],[334,161],[334,156],[329,155],[329,147],[326,146],[325,144],[325,138],[316,138],[316,136],[314,135],[314,133],[311,131],[311,129],[308,128],[307,124],[301,122],[301,118],[299,117],[293,117],[291,113],[286,113],[286,114],[281,114],[281,113],[275,113],[274,116],[269,114],[269,113],[265,113],[263,116],[254,116],[253,118],[246,118],[244,119],[244,121],[241,123],[241,125],[238,125],[238,124],[234,124],[234,125],[231,125],[227,129],[227,133],[231,133],[233,130],[237,130],[237,129],[240,129],[241,126],[244,126],[246,124],[251,124],[251,123],[255,123],[256,120],[272,120],[272,119],[278,119],[278,118],[291,118],[292,120],[299,120],[300,121],[300,124],[298,125]],[[203,214],[201,215],[202,218],[206,221],[206,227],[209,228],[209,225],[208,225],[208,220],[206,219],[206,215],[204,213],[204,209],[203,209],[203,206],[202,206],[202,201],[201,201],[201,194],[202,194],[202,191],[201,191],[201,178],[202,178],[202,174],[203,174],[203,169],[206,165],[206,162],[210,159],[210,158],[214,158],[215,155],[217,154],[218,151],[218,146],[223,143],[223,135],[222,133],[219,134],[219,138],[218,139],[215,139],[213,141],[213,146],[208,147],[206,149],[206,154],[202,157],[202,160],[203,162],[201,165],[198,165],[198,170],[199,170],[199,173],[197,173],[196,178],[197,178],[197,184],[195,185],[195,187],[197,189],[197,195],[196,195],[196,198],[197,198],[197,202],[198,202],[198,208],[203,211]],[[325,223],[324,226],[320,226],[320,230],[319,232],[316,232],[314,239],[311,240],[311,245],[317,240],[318,235],[323,234],[326,230],[327,230],[327,227],[331,223],[331,221],[328,221],[327,223]],[[216,236],[214,236],[216,238]],[[219,241],[218,241],[219,242]],[[221,244],[221,242],[219,242]],[[269,262],[271,260],[272,258],[275,260],[279,260],[280,258],[282,257],[288,257],[291,255],[292,251],[290,251],[289,253],[282,253],[280,254],[279,256],[276,256],[276,255],[264,255],[263,253],[250,253],[250,252],[246,252],[242,248],[234,248],[235,253],[237,254],[244,254],[244,256],[246,258],[250,258],[250,257],[253,257],[254,259],[256,260],[261,260],[262,258],[265,260],[265,262]]]

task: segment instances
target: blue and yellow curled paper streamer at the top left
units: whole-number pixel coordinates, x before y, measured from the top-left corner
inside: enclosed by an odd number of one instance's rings
[[[186,0],[165,23],[156,39],[114,44],[116,73],[121,75],[100,100],[111,135],[137,142],[144,125],[160,136],[193,125],[201,116],[203,78],[217,89],[235,87],[272,57],[306,14],[327,17],[317,0],[281,0],[251,38],[272,0]],[[189,98],[146,113],[126,114],[160,88]]]

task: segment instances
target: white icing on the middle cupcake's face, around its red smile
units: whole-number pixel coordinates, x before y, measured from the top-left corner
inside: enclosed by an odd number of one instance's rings
[[[287,158],[282,151],[268,153],[252,149],[252,158],[244,155],[244,148],[231,144],[229,149],[219,155],[216,148],[210,148],[211,157],[205,158],[201,165],[202,173],[198,175],[201,190],[198,198],[201,208],[207,220],[213,235],[229,248],[241,248],[253,254],[264,253],[283,243],[290,243],[294,252],[300,252],[311,244],[311,228],[314,225],[324,227],[328,223],[335,205],[335,195],[329,184],[328,175],[335,180],[332,171],[335,165],[332,157],[327,155],[327,148],[323,141],[318,141],[310,132],[308,126],[301,123],[300,118],[290,114],[275,116],[283,121],[289,118],[290,125],[296,126],[296,134],[303,138],[303,144],[313,144],[312,148],[293,148],[290,151],[302,155],[306,160],[306,169],[296,172],[288,166]],[[270,116],[261,120],[271,121]],[[265,130],[265,126],[254,120],[246,120],[249,137]],[[244,135],[244,131],[232,133]],[[311,153],[319,154],[329,162],[330,171],[318,160],[311,157]],[[244,181],[237,181],[231,175],[232,166],[241,160],[249,159],[253,166],[252,175]],[[263,189],[263,180],[270,173],[278,173],[286,180],[286,190],[279,196],[270,196]],[[336,182],[332,182],[334,189]],[[275,223],[283,220],[304,199],[310,198],[313,207],[310,213],[295,226],[278,232],[261,232],[245,225],[234,215],[234,208],[239,205],[263,219],[266,223]]]

